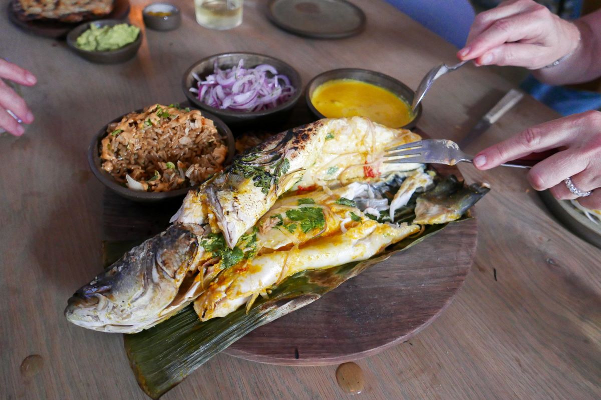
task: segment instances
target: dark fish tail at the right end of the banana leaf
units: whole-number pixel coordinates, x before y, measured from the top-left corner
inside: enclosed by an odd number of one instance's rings
[[[432,225],[455,221],[489,191],[486,184],[465,185],[456,176],[447,176],[432,190],[418,196],[413,223]]]

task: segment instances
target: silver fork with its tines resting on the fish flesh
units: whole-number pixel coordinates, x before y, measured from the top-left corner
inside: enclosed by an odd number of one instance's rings
[[[444,139],[419,140],[418,142],[386,149],[386,152],[384,157],[400,158],[384,161],[385,163],[434,163],[454,166],[460,161],[472,163],[472,160],[474,160],[474,156],[462,152],[457,143]],[[532,166],[513,163],[501,165],[504,167],[532,168]]]

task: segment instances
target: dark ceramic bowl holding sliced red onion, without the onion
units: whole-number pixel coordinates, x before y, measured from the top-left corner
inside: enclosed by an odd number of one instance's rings
[[[290,85],[296,89],[294,94],[285,103],[269,110],[257,112],[222,110],[207,106],[198,100],[197,95],[189,89],[197,87],[197,80],[192,73],[197,74],[201,79],[210,75],[214,71],[214,64],[221,69],[235,67],[243,59],[245,68],[253,68],[260,64],[270,64],[278,70],[279,74],[285,75],[290,79]],[[277,58],[255,53],[223,53],[203,58],[191,65],[184,73],[182,78],[182,89],[191,103],[198,108],[206,110],[221,118],[228,125],[254,125],[263,122],[277,124],[288,117],[294,105],[299,101],[302,95],[302,81],[299,73],[290,65]]]

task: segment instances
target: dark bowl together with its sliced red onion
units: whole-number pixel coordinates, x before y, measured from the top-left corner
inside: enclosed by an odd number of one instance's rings
[[[284,120],[302,94],[293,67],[255,53],[201,59],[185,72],[182,86],[188,100],[232,125]]]

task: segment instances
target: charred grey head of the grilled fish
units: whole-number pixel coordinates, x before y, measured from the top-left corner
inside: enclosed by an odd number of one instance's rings
[[[102,332],[133,333],[162,319],[194,266],[198,237],[183,225],[172,225],[146,240],[69,299],[67,320]]]

